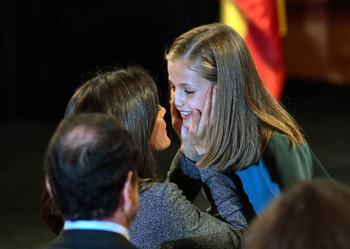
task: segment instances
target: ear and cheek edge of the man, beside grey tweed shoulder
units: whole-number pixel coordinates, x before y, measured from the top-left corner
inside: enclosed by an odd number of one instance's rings
[[[139,207],[139,191],[137,184],[133,182],[133,171],[129,171],[124,183],[123,190],[121,195],[123,195],[123,202],[120,202],[123,205],[124,212],[131,219],[134,218],[137,209]]]

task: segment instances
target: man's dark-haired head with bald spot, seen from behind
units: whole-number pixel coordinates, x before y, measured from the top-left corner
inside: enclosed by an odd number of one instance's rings
[[[79,113],[59,123],[44,156],[47,189],[65,220],[137,212],[139,147],[117,117]],[[121,215],[121,216],[120,216]]]

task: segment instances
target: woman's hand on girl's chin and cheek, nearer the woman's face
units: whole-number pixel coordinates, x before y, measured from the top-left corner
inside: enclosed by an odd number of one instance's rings
[[[180,112],[176,109],[174,100],[170,100],[170,113],[172,115],[173,128],[181,141],[181,152],[190,160],[196,161],[198,156],[196,149],[190,143],[188,132],[189,129],[183,125]]]

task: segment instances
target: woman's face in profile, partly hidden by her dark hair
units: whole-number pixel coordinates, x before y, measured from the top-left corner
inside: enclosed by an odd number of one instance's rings
[[[159,112],[157,120],[154,125],[154,129],[149,140],[149,146],[152,152],[163,151],[170,145],[170,139],[167,136],[166,123],[164,120],[164,115],[166,110],[159,106]]]

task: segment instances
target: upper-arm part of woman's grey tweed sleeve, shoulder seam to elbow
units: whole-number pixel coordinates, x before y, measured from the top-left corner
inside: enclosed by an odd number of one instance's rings
[[[168,193],[163,199],[161,248],[239,247],[244,229],[199,211],[175,184],[169,184],[165,191]]]

